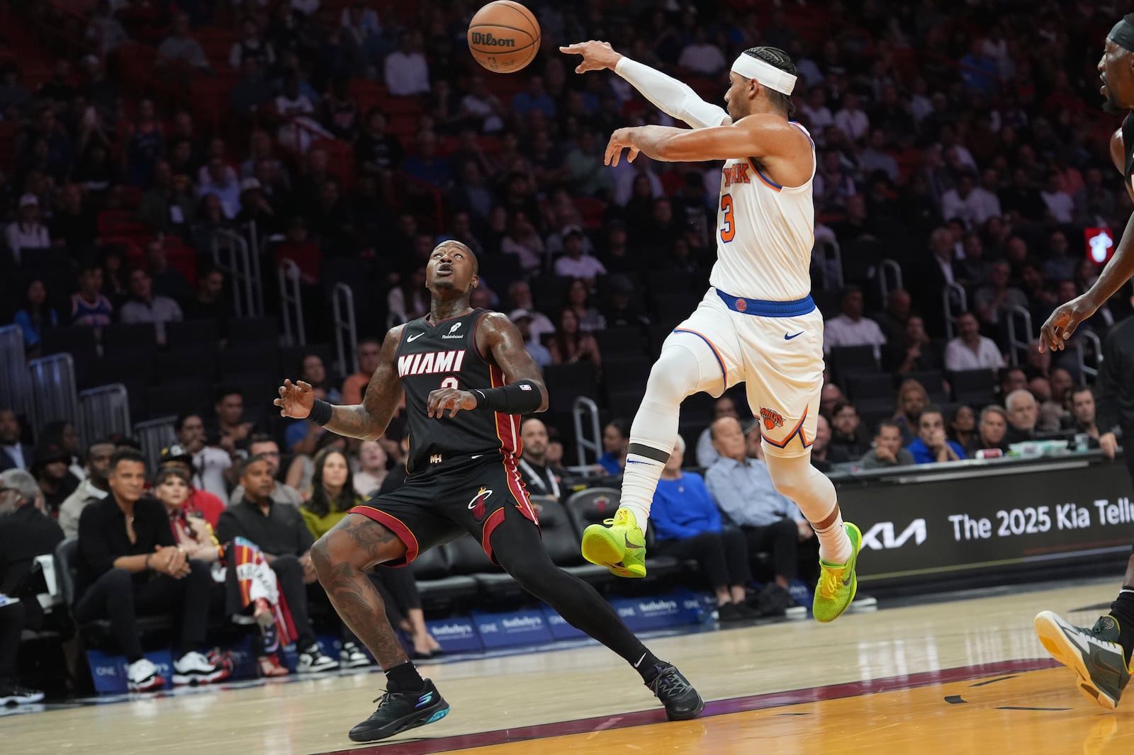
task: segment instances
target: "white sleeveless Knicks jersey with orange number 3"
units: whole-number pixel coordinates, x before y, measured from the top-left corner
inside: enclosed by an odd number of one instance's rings
[[[807,129],[790,121],[811,139]],[[728,160],[717,205],[717,263],[709,282],[743,298],[794,302],[811,292],[815,244],[815,143],[811,178],[785,187],[769,180],[751,159]]]

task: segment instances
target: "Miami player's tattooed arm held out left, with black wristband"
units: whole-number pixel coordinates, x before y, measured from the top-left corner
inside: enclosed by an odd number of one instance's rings
[[[396,356],[401,340],[403,325],[391,328],[382,341],[382,354],[378,370],[370,379],[362,404],[354,406],[330,406],[330,418],[321,422],[332,433],[361,440],[378,440],[386,432],[393,413],[401,404],[401,383],[398,381]],[[321,416],[312,416],[315,398],[310,384],[299,381],[284,381],[280,397],[274,401],[280,407],[280,416],[319,422]]]

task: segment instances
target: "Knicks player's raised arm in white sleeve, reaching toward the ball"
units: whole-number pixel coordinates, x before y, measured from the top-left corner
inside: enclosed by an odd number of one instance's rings
[[[594,40],[577,42],[561,46],[559,51],[583,56],[583,62],[575,68],[576,74],[609,68],[625,78],[654,107],[672,118],[684,120],[693,128],[733,122],[723,108],[699,97],[688,84],[679,82],[672,76],[667,76],[655,68],[631,60],[611,48],[609,42],[595,42]]]

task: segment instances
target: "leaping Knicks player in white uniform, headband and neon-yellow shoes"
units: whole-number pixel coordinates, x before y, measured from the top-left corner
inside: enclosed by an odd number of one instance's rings
[[[811,299],[815,145],[789,120],[795,65],[782,50],[753,48],[736,59],[725,93],[728,112],[692,88],[616,52],[583,42],[576,73],[609,68],[693,129],[620,128],[606,163],[623,150],[654,160],[723,160],[717,214],[717,263],[696,311],[662,345],[631,427],[620,507],[609,527],[583,535],[583,554],[623,577],[645,576],[650,503],[677,438],[685,397],[720,396],[744,382],[761,421],[764,458],[776,489],[794,500],[819,538],[821,576],[812,611],[836,619],[857,588],[862,535],[844,524],[835,486],[811,466],[823,385],[823,320]]]

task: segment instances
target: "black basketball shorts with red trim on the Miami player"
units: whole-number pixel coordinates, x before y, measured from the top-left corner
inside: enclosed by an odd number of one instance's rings
[[[515,507],[539,526],[539,517],[516,470],[516,457],[490,452],[409,475],[398,490],[359,503],[350,514],[373,519],[405,543],[405,558],[383,566],[406,566],[418,553],[464,534],[476,537],[496,563],[490,538],[492,531],[503,523],[507,507]]]

